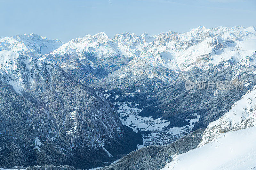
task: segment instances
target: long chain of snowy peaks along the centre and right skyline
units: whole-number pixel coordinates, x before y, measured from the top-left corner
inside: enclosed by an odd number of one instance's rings
[[[112,39],[105,33],[98,33],[73,39],[43,55],[40,60],[59,64],[69,74],[73,72],[74,76],[79,77],[77,80],[87,84],[92,82],[84,80],[86,76],[92,74],[90,78],[97,77],[94,69],[105,71],[96,78],[99,80],[121,67],[122,70],[115,72],[114,77],[109,75],[113,77],[110,79],[124,77],[122,75],[136,79],[143,74],[146,79],[155,78],[156,81],[170,83],[180,71],[207,70],[229,59],[240,62],[252,55],[256,51],[255,30],[255,26],[211,29],[199,26],[187,33],[169,31],[153,37],[147,33],[139,36],[121,33]],[[123,58],[126,62],[120,64]],[[104,63],[113,62],[119,63],[120,67],[106,71]],[[110,64],[108,68],[111,67],[113,65]],[[168,73],[165,69],[172,71]],[[78,76],[77,72],[83,77]]]

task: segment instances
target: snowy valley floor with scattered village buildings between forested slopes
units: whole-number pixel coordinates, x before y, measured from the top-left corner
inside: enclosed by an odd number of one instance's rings
[[[188,135],[195,122],[199,122],[199,115],[196,119],[187,119],[191,122],[188,126],[166,128],[171,122],[152,117],[141,117],[142,109],[138,109],[138,104],[132,102],[114,102],[117,113],[125,126],[132,128],[136,133],[140,133],[143,138],[143,146],[171,144],[181,137]],[[193,123],[194,122],[194,123]]]

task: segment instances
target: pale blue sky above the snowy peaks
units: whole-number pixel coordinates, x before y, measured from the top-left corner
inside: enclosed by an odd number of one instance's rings
[[[0,37],[37,33],[67,42],[99,32],[256,26],[256,0],[0,0],[0,16]]]

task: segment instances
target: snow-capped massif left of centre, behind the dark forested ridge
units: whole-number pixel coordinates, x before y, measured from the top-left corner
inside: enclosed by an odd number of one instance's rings
[[[63,44],[39,60],[59,64],[76,80],[90,84],[127,65],[150,40],[146,33],[141,36],[116,34],[114,39],[105,33],[86,35]]]

